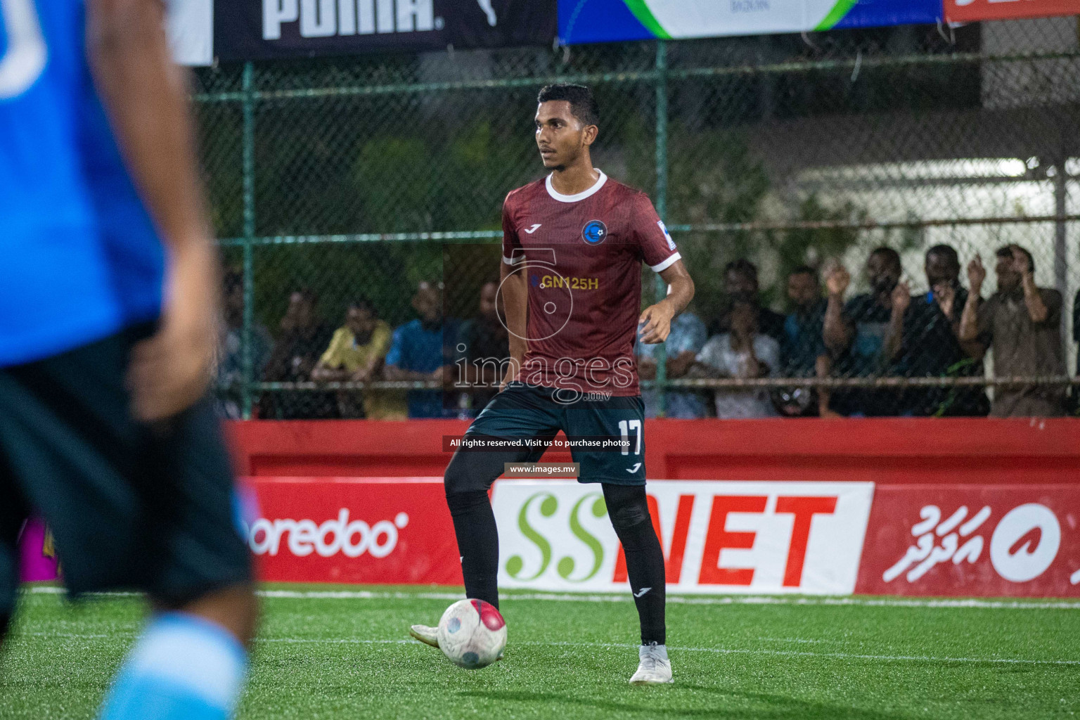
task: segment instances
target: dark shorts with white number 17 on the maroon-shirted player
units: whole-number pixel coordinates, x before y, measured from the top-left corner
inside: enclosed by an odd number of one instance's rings
[[[580,394],[578,394],[580,396]],[[573,462],[580,464],[579,483],[645,485],[645,405],[640,395],[606,399],[572,399],[573,395],[553,388],[511,382],[491,398],[469,426],[465,437],[546,440],[539,448],[491,451],[461,450],[473,472],[468,477],[476,487],[455,487],[455,491],[486,490],[502,474],[508,462],[536,462],[548,443],[563,431],[567,438],[625,438],[624,450],[590,450],[571,447]]]

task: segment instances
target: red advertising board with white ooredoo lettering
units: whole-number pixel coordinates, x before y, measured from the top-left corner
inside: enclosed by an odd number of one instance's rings
[[[257,478],[245,531],[271,582],[460,585],[442,478]]]

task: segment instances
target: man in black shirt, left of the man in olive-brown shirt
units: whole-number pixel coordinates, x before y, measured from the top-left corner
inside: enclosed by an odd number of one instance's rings
[[[960,259],[949,245],[927,250],[923,269],[929,291],[910,298],[900,342],[890,345],[893,370],[908,378],[983,377],[983,363],[960,342],[960,315],[968,291],[960,285]],[[893,315],[892,317],[895,317]],[[890,339],[896,335],[891,334]],[[908,416],[985,416],[990,403],[983,388],[910,388],[897,395]]]

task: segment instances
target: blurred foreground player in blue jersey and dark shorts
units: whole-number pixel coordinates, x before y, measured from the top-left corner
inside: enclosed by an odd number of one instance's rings
[[[218,266],[162,3],[0,11],[0,633],[38,512],[72,595],[137,588],[156,610],[102,717],[227,718],[256,603],[205,396]]]

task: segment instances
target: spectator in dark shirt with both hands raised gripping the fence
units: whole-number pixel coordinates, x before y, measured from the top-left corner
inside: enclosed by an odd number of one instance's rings
[[[833,373],[841,378],[876,378],[888,375],[896,352],[910,290],[900,282],[900,254],[879,247],[866,260],[870,291],[843,302],[851,274],[840,264],[826,272],[828,303],[822,337],[833,356]],[[845,416],[897,413],[895,391],[872,388],[835,390],[826,410]]]

